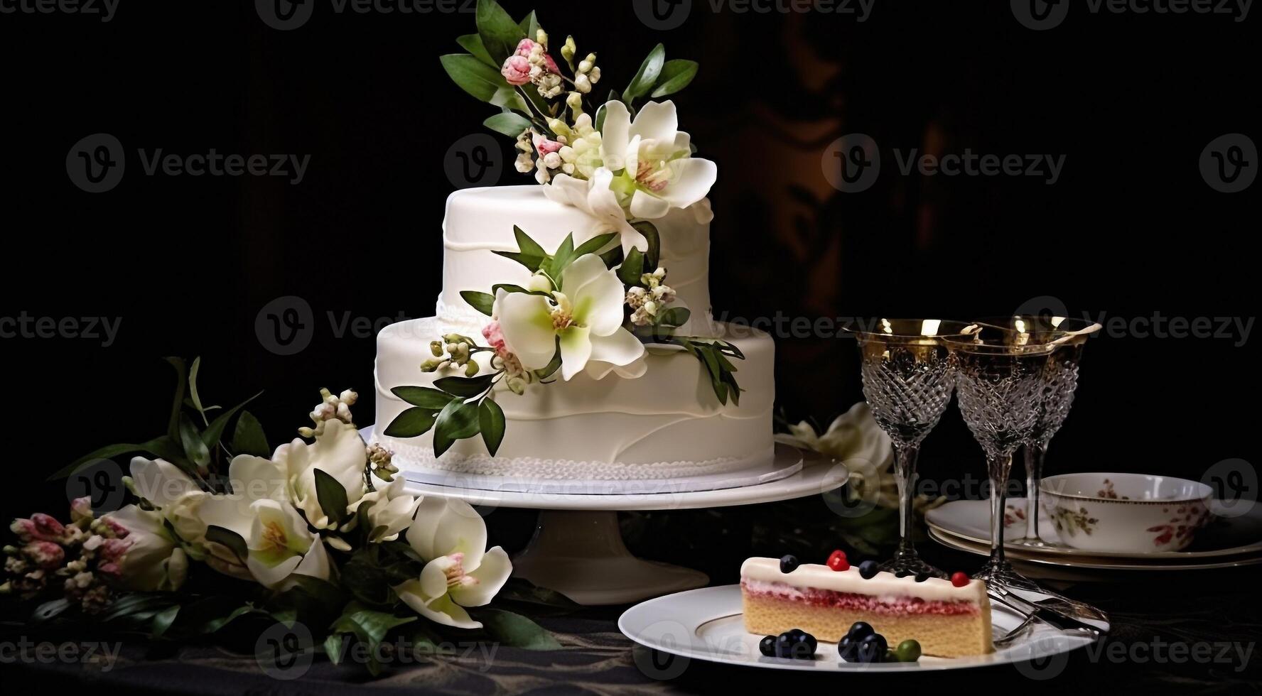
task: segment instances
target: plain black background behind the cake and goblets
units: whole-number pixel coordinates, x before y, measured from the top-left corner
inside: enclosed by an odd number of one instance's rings
[[[507,0],[514,16],[531,5]],[[63,513],[48,473],[165,427],[163,356],[202,356],[202,393],[251,405],[273,445],[304,425],[316,390],[355,387],[372,422],[372,332],[328,314],[427,316],[440,287],[448,149],[492,112],[438,55],[472,14],[336,14],[318,3],[279,32],[251,3],[124,4],[109,23],[0,15],[4,57],[4,293],[0,315],[121,319],[116,343],[0,339],[8,421],[4,512]],[[472,4],[469,4],[469,8]],[[719,165],[712,192],[716,313],[742,316],[1005,314],[1041,296],[1131,322],[1256,308],[1258,184],[1223,194],[1198,156],[1258,124],[1254,18],[1090,14],[1047,32],[1007,3],[882,3],[871,16],[712,11],[645,26],[630,3],[538,0],[555,45],[599,54],[597,92],[644,54],[694,58],[681,127]],[[126,174],[76,188],[66,156],[109,132]],[[828,187],[819,158],[864,132],[885,169],[863,193]],[[1257,134],[1253,134],[1257,137]],[[498,136],[496,136],[498,137]],[[500,156],[511,144],[500,139]],[[136,149],[310,155],[305,179],[148,177]],[[900,175],[892,149],[1064,154],[1055,185],[1030,177]],[[482,182],[490,184],[492,182]],[[504,166],[500,184],[528,184]],[[813,192],[814,203],[790,192]],[[795,189],[796,190],[796,189]],[[313,310],[310,344],[256,338],[281,296]],[[1252,338],[1252,337],[1251,337]],[[1253,343],[1108,332],[1087,349],[1055,470],[1200,478],[1256,459]],[[777,340],[777,402],[823,422],[861,398],[853,343]],[[511,436],[511,435],[510,435]],[[924,448],[928,477],[982,477],[954,409]]]

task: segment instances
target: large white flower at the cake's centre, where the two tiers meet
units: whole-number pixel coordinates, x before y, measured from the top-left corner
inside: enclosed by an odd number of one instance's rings
[[[617,272],[588,253],[565,269],[551,300],[501,289],[493,313],[505,344],[528,369],[546,367],[559,339],[560,373],[567,381],[588,366],[597,378],[615,368],[637,377],[644,372],[637,366],[644,344],[622,328],[625,295]]]

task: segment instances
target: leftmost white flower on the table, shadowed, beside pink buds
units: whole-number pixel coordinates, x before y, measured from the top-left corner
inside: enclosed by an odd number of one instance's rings
[[[178,590],[188,577],[188,556],[156,511],[125,506],[103,516],[127,531],[117,540],[125,550],[117,564],[117,583],[129,590]]]

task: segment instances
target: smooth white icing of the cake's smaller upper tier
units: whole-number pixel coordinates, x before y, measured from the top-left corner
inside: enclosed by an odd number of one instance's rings
[[[699,223],[690,211],[674,209],[655,219],[661,237],[659,265],[678,293],[673,306],[688,308],[694,316],[709,315],[709,223]],[[443,295],[438,318],[456,322],[485,320],[461,299],[462,290],[486,293],[498,282],[525,285],[530,271],[491,251],[516,251],[512,227],[521,227],[546,251],[555,251],[569,233],[578,246],[608,232],[583,211],[549,200],[543,187],[495,187],[458,190],[447,198],[443,221]]]

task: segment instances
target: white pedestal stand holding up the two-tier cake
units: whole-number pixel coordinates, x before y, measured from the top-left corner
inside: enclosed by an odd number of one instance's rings
[[[363,430],[371,440],[371,426]],[[704,586],[704,572],[646,561],[631,555],[622,543],[618,528],[620,511],[695,509],[745,506],[818,496],[839,488],[849,473],[840,463],[814,453],[800,453],[787,445],[776,445],[769,469],[790,470],[762,480],[737,477],[742,483],[732,488],[692,490],[697,482],[625,482],[625,493],[572,493],[560,482],[540,480],[533,490],[521,480],[509,489],[492,490],[471,485],[424,483],[408,477],[406,490],[414,496],[458,498],[481,508],[509,507],[538,509],[539,522],[534,538],[512,560],[512,574],[531,583],[557,590],[578,604],[627,604],[652,596]],[[770,480],[769,480],[770,479]],[[448,479],[453,480],[453,479]],[[486,485],[485,477],[476,477]],[[607,482],[610,484],[612,482]],[[588,488],[588,490],[591,490]]]

